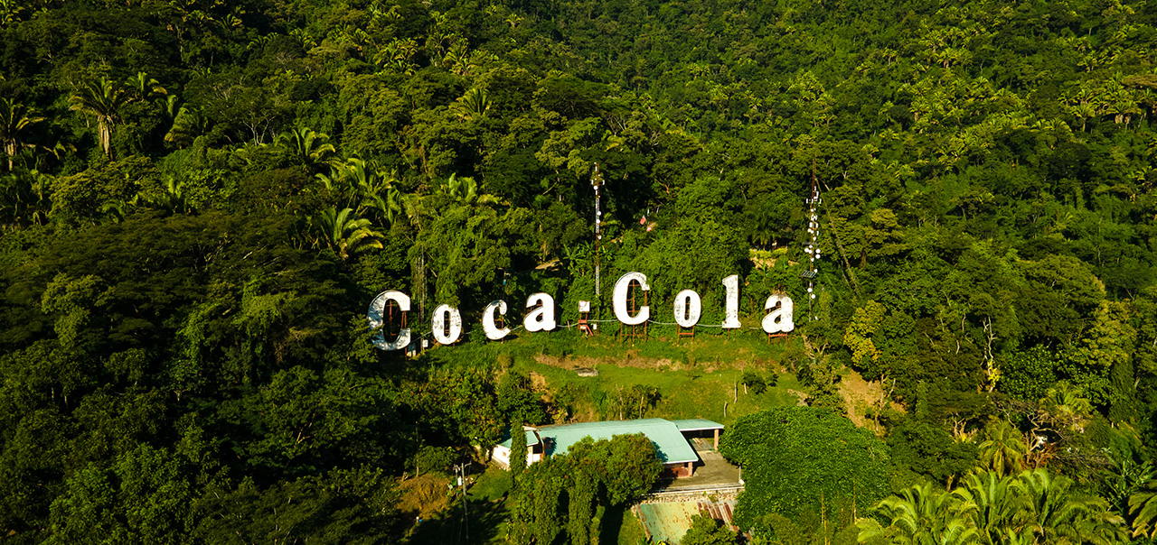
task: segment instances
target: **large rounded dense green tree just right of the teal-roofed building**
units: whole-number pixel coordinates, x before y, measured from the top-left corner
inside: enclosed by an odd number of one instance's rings
[[[743,466],[740,528],[773,512],[819,513],[839,498],[865,508],[889,488],[885,445],[830,409],[774,408],[740,417],[720,451]]]

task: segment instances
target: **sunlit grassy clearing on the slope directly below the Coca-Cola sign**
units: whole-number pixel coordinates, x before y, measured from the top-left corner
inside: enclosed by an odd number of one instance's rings
[[[604,324],[609,326],[609,324]],[[656,388],[658,402],[646,417],[709,418],[730,424],[736,417],[767,406],[791,405],[801,391],[795,376],[786,373],[803,354],[798,339],[776,339],[752,331],[730,335],[700,334],[677,339],[675,331],[653,330],[649,339],[619,339],[617,329],[584,337],[573,329],[525,334],[504,343],[465,342],[439,346],[423,357],[437,365],[499,365],[541,375],[554,395],[568,389],[574,397],[570,418],[598,420],[636,418],[625,410],[632,388]],[[575,372],[592,367],[598,376]],[[756,395],[740,383],[745,371],[765,378],[778,375],[775,387]]]

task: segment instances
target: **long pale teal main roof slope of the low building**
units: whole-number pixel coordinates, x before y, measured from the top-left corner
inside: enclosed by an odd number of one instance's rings
[[[598,441],[599,439],[611,439],[614,435],[632,433],[647,435],[647,439],[655,443],[658,458],[663,463],[677,464],[699,461],[695,449],[691,448],[675,423],[662,418],[560,424],[538,428],[538,435],[547,443],[547,455],[566,454],[572,445],[587,436]]]

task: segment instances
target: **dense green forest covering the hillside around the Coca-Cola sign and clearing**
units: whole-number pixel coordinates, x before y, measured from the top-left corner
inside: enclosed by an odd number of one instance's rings
[[[0,0],[0,539],[407,540],[400,478],[582,393],[377,351],[367,305],[457,305],[479,345],[493,299],[574,320],[597,164],[604,298],[797,303],[812,406],[725,435],[753,539],[1145,540],[1155,48],[1143,0]],[[597,543],[654,468],[551,488],[631,463],[587,448],[492,537]]]

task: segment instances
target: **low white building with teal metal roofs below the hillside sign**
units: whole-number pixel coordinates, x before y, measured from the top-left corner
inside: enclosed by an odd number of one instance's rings
[[[694,473],[695,463],[699,455],[687,441],[686,431],[691,434],[713,433],[716,447],[718,446],[718,433],[723,425],[703,419],[692,420],[665,420],[662,418],[644,418],[640,420],[610,420],[580,424],[560,424],[554,426],[541,426],[538,428],[526,427],[523,433],[526,436],[526,464],[532,464],[543,460],[544,456],[566,454],[570,446],[583,438],[594,440],[611,439],[616,435],[627,435],[642,433],[655,445],[663,469],[673,477],[691,477]],[[501,465],[510,466],[510,439],[494,447],[494,460]]]

